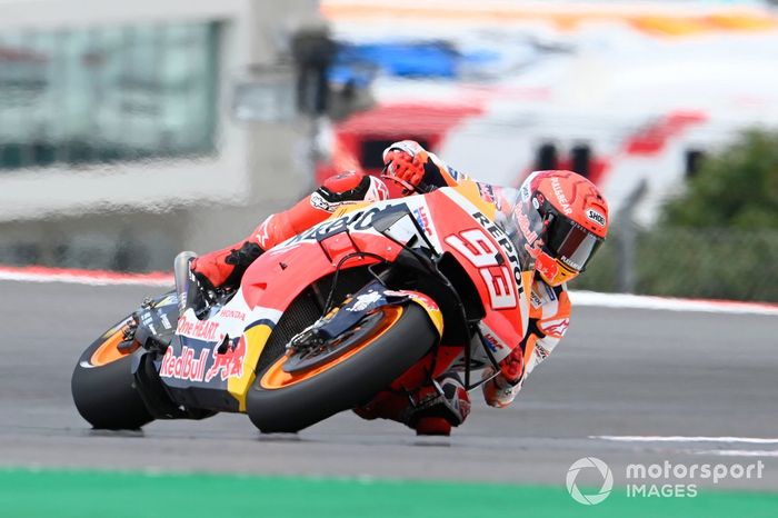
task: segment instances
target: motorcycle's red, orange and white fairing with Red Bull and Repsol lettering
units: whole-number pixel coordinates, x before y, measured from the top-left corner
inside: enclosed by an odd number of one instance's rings
[[[407,215],[412,222],[403,219]],[[236,295],[208,318],[199,320],[188,309],[171,346],[157,361],[160,378],[183,402],[245,411],[255,366],[290,303],[336,270],[395,261],[403,246],[431,248],[437,256],[450,253],[462,265],[487,308],[480,336],[499,361],[527,329],[531,265],[522,263],[511,238],[493,222],[496,215],[495,205],[480,196],[475,182],[337,211],[263,253]],[[423,236],[413,237],[413,231]],[[430,319],[439,319],[433,301],[427,306]],[[457,360],[451,351],[440,358],[436,372]]]

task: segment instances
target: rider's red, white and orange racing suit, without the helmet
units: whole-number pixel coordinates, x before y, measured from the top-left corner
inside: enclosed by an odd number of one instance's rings
[[[415,141],[396,142],[383,152],[387,175],[403,187],[403,195],[419,185],[431,188],[456,186],[466,178]],[[482,196],[496,196],[499,188],[485,183]],[[329,218],[348,203],[389,198],[382,180],[348,171],[327,179],[315,192],[292,208],[271,215],[246,239],[221,250],[198,257],[192,271],[206,288],[237,287],[246,269],[265,250]],[[493,200],[489,200],[493,201]],[[485,399],[502,408],[520,390],[529,372],[553,350],[569,323],[570,300],[565,285],[550,287],[536,275],[529,316],[529,330],[518,347],[500,361],[499,372],[487,369],[490,378],[482,386]],[[383,391],[356,409],[366,419],[385,418],[408,425],[422,435],[448,435],[452,426],[465,421],[470,400],[459,377],[447,372],[435,383],[415,394]]]

